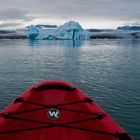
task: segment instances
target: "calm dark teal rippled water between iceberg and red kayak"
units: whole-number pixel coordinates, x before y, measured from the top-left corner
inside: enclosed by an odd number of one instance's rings
[[[72,82],[140,139],[140,40],[0,40],[0,110],[47,79]]]

